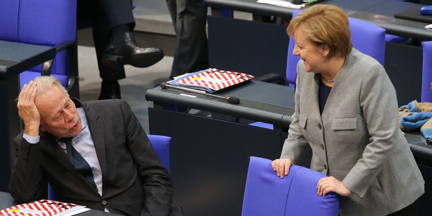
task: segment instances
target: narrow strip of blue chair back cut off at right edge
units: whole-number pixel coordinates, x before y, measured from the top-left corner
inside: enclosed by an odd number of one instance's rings
[[[422,42],[423,71],[422,71],[422,102],[432,102],[432,42]]]

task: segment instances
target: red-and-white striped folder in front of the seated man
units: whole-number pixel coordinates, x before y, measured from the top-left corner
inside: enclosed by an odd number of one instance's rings
[[[78,213],[82,213],[83,208],[85,208],[85,206],[79,206],[77,204],[69,204],[60,201],[41,199],[38,201],[32,201],[30,203],[19,204],[17,206],[5,208],[3,210],[0,210],[0,215],[4,215],[4,216],[17,216],[17,215],[58,216],[58,215],[66,215],[66,214],[75,215]]]

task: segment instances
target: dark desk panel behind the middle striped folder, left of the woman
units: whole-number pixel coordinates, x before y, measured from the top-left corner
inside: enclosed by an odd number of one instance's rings
[[[289,44],[286,26],[214,16],[208,16],[207,20],[210,67],[257,78],[276,73],[286,82]],[[226,25],[227,21],[232,23]]]

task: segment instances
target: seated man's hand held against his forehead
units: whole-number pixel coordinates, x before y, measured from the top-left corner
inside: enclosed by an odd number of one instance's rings
[[[18,96],[18,114],[24,121],[24,134],[28,136],[39,136],[40,114],[35,104],[36,93],[37,86],[30,81],[24,84]]]

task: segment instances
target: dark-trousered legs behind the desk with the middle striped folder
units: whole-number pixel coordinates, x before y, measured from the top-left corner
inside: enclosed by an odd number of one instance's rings
[[[166,0],[176,32],[171,78],[208,68],[207,8],[202,0]]]

